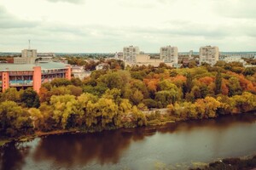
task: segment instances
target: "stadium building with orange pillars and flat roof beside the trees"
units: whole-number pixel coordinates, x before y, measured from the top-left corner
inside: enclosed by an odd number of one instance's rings
[[[0,86],[7,88],[32,87],[39,92],[41,84],[55,78],[71,79],[71,65],[55,62],[38,64],[0,64]]]

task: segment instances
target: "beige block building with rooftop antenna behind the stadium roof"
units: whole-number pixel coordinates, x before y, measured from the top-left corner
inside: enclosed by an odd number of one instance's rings
[[[21,57],[14,58],[14,64],[34,64],[37,55],[37,49],[23,49]]]

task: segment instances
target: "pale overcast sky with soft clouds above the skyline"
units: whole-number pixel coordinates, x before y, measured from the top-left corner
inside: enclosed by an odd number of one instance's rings
[[[256,51],[255,0],[1,0],[0,52]]]

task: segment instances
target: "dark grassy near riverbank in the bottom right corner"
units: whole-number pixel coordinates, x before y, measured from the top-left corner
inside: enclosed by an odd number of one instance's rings
[[[207,167],[196,167],[190,170],[251,170],[256,168],[256,156],[247,158],[226,158],[209,163]]]

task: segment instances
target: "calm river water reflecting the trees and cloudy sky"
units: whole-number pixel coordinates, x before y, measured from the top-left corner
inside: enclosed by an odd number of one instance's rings
[[[52,135],[9,144],[0,153],[0,169],[186,169],[193,162],[255,154],[256,116]]]

